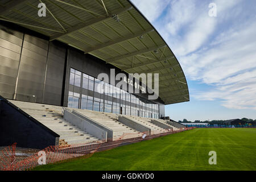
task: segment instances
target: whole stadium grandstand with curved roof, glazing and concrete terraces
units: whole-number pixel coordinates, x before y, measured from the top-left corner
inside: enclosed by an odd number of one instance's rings
[[[0,10],[0,146],[108,142],[184,127],[164,111],[189,101],[183,70],[129,0],[3,0]],[[158,98],[148,99],[154,89],[143,79],[119,87],[98,78],[113,70],[127,80],[159,73]]]

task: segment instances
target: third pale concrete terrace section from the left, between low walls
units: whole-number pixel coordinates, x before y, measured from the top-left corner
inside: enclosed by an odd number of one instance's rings
[[[133,115],[125,115],[125,117],[133,119],[134,121],[141,123],[143,126],[149,127],[151,129],[151,135],[165,133],[168,131],[166,129],[163,129],[162,127],[156,126],[153,123],[151,123],[151,118],[135,117]]]

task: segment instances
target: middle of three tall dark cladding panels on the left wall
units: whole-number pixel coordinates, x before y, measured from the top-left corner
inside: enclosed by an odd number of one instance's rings
[[[16,93],[25,96],[36,96],[36,102],[39,103],[43,102],[47,50],[47,40],[24,35]]]

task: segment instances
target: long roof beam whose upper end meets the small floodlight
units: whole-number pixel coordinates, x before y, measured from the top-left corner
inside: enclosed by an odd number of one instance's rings
[[[121,13],[129,11],[131,9],[133,9],[133,6],[127,6],[122,9],[118,9],[117,11],[113,12],[113,14],[121,14]],[[75,27],[69,28],[65,34],[55,34],[55,35],[51,36],[50,40],[55,40],[55,39],[61,38],[61,36],[71,34],[72,32],[79,31],[82,28],[92,26],[93,24],[102,22],[102,21],[104,21],[106,19],[110,19],[110,18],[111,17],[104,16],[104,17],[100,17],[100,18],[94,18],[93,20],[90,20],[90,22],[87,22],[87,23],[80,23]]]

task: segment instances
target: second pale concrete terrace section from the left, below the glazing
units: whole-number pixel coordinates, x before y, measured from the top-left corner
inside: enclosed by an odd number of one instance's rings
[[[118,115],[113,113],[102,113],[99,111],[91,111],[85,109],[73,109],[82,115],[85,115],[88,118],[93,119],[94,121],[101,123],[113,130],[113,140],[119,139],[128,139],[141,137],[143,133],[132,129],[129,126],[123,125],[123,123],[118,122]]]

